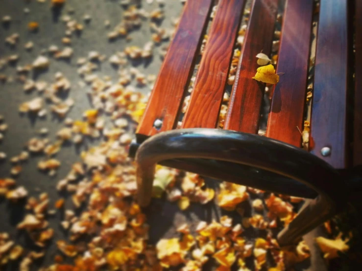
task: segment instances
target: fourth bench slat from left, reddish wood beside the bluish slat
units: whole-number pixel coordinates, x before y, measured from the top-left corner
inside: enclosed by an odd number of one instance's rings
[[[288,0],[266,136],[300,147],[307,90],[313,0]]]

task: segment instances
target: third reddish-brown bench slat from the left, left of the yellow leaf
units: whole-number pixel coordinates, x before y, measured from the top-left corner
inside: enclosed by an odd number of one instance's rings
[[[270,54],[277,12],[277,0],[255,0],[241,50],[236,80],[231,92],[224,129],[256,134],[265,84],[251,79],[258,53]]]

